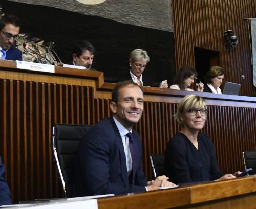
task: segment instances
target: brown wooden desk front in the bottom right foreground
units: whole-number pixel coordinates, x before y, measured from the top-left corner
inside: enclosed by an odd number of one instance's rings
[[[99,209],[256,208],[256,177],[98,199]]]

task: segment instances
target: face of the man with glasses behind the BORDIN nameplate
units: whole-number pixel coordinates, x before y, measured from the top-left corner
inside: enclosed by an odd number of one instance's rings
[[[2,47],[4,50],[8,50],[14,43],[14,38],[7,37],[5,33],[11,36],[18,35],[19,27],[16,27],[12,24],[6,24],[5,27],[0,31],[0,47]]]

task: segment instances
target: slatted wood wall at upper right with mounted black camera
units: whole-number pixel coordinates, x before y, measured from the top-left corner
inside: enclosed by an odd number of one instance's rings
[[[244,18],[256,17],[255,0],[173,0],[176,66],[194,65],[194,47],[220,52],[225,80],[240,83],[241,95],[256,96],[252,82],[249,29]],[[223,32],[238,36],[236,48],[224,45]],[[207,71],[207,69],[206,69]],[[245,75],[245,79],[241,76]]]

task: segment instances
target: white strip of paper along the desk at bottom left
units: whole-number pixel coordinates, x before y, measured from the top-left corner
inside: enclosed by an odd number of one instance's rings
[[[96,199],[90,199],[90,200],[81,200],[81,201],[55,201],[51,203],[44,203],[44,204],[31,204],[26,206],[22,206],[22,204],[19,205],[3,205],[0,208],[22,208],[22,209],[70,209],[70,208],[76,208],[76,209],[84,209],[84,208],[90,208],[90,209],[98,209],[98,203]]]

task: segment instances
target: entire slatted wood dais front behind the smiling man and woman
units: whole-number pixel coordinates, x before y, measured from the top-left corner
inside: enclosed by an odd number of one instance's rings
[[[0,156],[14,202],[63,197],[52,151],[54,123],[94,124],[110,115],[109,99],[93,87],[0,79]],[[136,125],[143,168],[152,179],[150,154],[163,153],[179,131],[176,103],[145,102]],[[256,108],[210,106],[203,130],[216,146],[224,173],[243,170],[242,151],[255,150]]]

